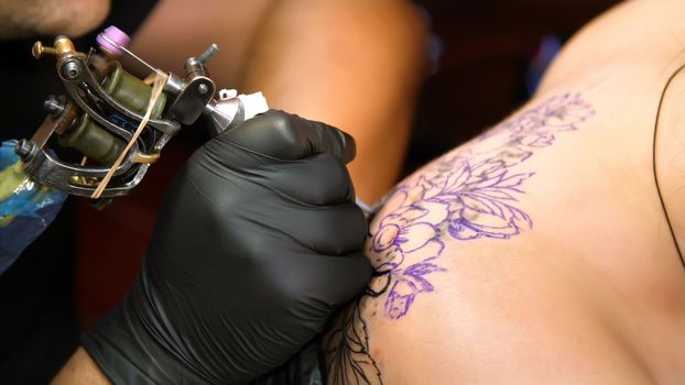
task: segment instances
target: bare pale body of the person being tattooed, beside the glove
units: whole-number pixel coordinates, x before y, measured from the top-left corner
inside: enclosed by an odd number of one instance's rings
[[[682,383],[685,268],[652,143],[683,16],[675,0],[608,12],[520,111],[399,185],[368,241],[384,274],[326,341],[330,384]],[[656,152],[681,245],[683,95],[685,74]]]

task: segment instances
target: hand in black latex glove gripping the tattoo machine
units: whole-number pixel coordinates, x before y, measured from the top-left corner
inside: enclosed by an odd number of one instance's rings
[[[239,384],[287,361],[371,277],[354,156],[349,135],[279,111],[207,142],[90,356],[122,384]]]

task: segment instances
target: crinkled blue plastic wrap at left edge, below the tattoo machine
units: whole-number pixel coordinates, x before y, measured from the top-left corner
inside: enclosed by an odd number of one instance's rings
[[[66,199],[66,194],[29,178],[15,144],[0,145],[0,275],[47,229]]]

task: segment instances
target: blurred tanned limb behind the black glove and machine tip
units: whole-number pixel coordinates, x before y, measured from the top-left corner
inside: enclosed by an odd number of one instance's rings
[[[352,134],[352,178],[372,201],[401,168],[425,38],[422,18],[405,1],[275,1],[247,51],[240,88]]]

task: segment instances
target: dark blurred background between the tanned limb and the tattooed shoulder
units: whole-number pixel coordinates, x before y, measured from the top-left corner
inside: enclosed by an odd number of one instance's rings
[[[443,42],[421,96],[406,173],[497,123],[528,98],[545,35],[562,40],[617,0],[420,0]]]

